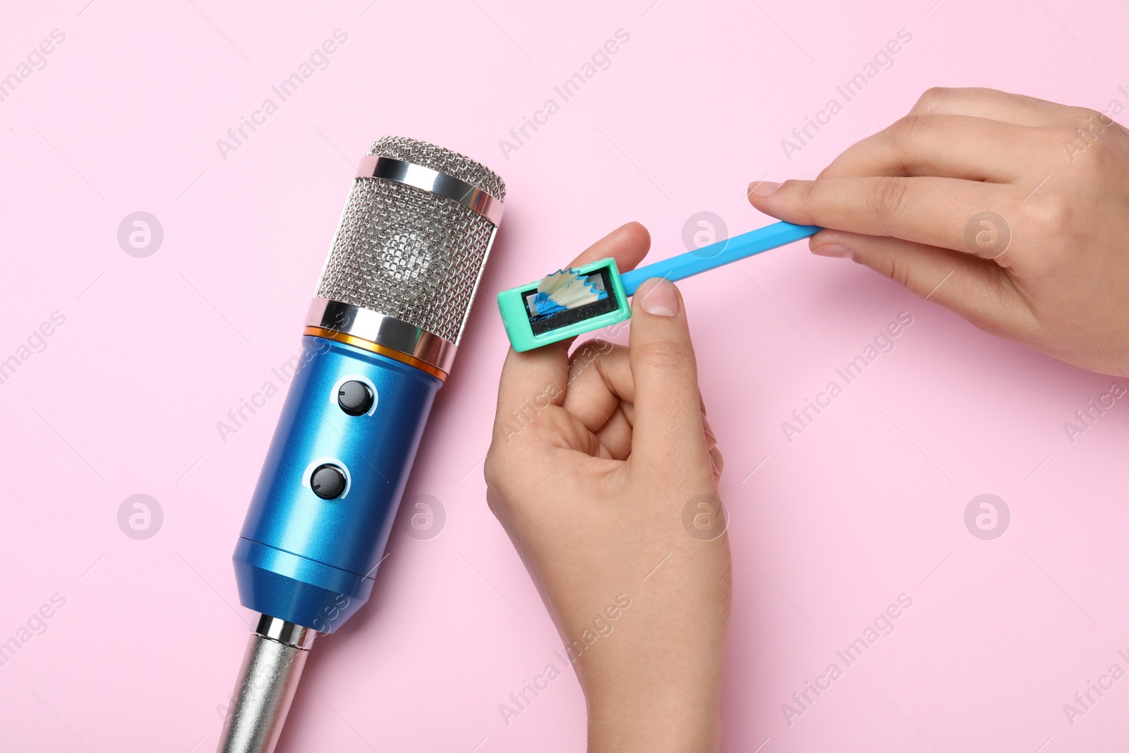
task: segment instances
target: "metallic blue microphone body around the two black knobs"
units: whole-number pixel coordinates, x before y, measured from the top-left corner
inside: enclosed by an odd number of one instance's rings
[[[376,389],[369,414],[336,402],[345,379]],[[359,348],[303,338],[303,354],[234,560],[244,606],[333,632],[373,590],[431,402],[443,383]],[[315,465],[347,470],[342,497],[309,485]]]

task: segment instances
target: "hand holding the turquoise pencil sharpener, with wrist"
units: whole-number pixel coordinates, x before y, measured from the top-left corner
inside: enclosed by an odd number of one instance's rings
[[[572,266],[646,255],[630,224]],[[490,508],[576,668],[589,751],[711,751],[729,615],[721,456],[682,297],[634,295],[630,347],[509,352],[485,461]]]

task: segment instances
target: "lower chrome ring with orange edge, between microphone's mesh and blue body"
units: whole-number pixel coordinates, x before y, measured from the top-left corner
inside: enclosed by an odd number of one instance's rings
[[[314,298],[305,334],[326,338],[394,358],[446,379],[455,360],[455,343],[414,324],[352,304]]]

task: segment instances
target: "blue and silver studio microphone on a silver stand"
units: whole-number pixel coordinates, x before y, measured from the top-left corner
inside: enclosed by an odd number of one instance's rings
[[[262,616],[220,753],[274,750],[314,637],[368,601],[505,198],[492,170],[423,141],[386,137],[361,160],[233,557]]]

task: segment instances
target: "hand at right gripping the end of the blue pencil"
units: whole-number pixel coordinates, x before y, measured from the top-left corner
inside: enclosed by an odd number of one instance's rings
[[[817,180],[749,200],[987,332],[1129,371],[1129,134],[1101,113],[930,89]]]

